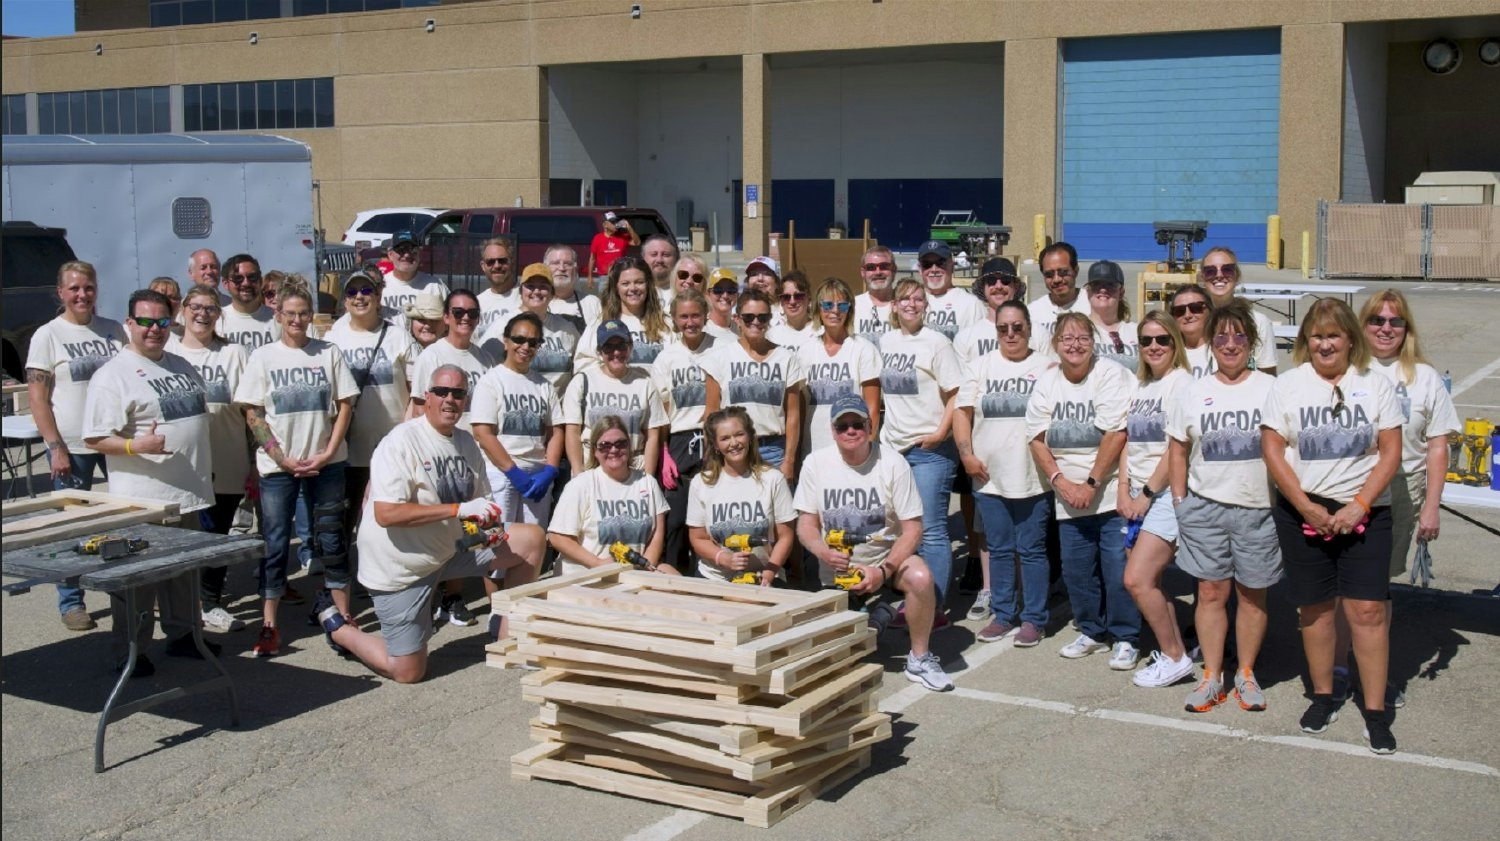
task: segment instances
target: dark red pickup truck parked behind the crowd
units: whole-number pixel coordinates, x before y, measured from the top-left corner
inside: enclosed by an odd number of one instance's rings
[[[672,237],[660,213],[648,207],[470,207],[440,214],[417,234],[422,243],[422,270],[436,274],[448,286],[480,288],[488,282],[480,273],[480,243],[506,235],[519,246],[516,270],[542,262],[548,246],[562,243],[578,252],[579,274],[588,265],[588,246],[604,231],[604,211],[630,223],[645,241],[654,234]],[[674,237],[675,240],[675,237]],[[639,253],[630,249],[627,253]],[[384,259],[384,249],[364,249],[360,261]]]

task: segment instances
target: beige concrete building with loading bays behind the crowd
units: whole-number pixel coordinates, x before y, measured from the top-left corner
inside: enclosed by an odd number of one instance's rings
[[[267,16],[168,24],[206,7]],[[292,136],[312,147],[334,238],[382,205],[628,202],[674,225],[717,216],[720,243],[752,252],[786,219],[804,235],[872,219],[909,247],[924,214],[968,205],[1014,226],[1017,250],[1036,214],[1084,256],[1120,259],[1160,252],[1152,220],[1192,217],[1257,259],[1276,213],[1288,265],[1318,199],[1400,201],[1425,169],[1500,169],[1482,129],[1500,124],[1500,66],[1480,49],[1500,0],[304,13],[327,7],[80,0],[78,34],[0,48],[6,132],[123,130],[134,105],[130,130]],[[1424,66],[1434,40],[1456,67]]]

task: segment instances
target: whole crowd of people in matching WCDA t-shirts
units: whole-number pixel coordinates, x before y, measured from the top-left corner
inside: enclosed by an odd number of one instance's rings
[[[910,279],[870,249],[858,295],[837,277],[783,277],[771,258],[741,285],[666,238],[642,253],[610,262],[594,297],[567,246],[516,273],[512,243],[489,240],[489,288],[472,292],[420,273],[398,234],[390,271],[354,273],[321,339],[315,295],[284,282],[266,307],[260,265],[236,255],[224,292],[183,295],[178,334],[153,327],[171,301],[132,298],[128,316],[160,339],[158,379],[182,388],[108,375],[128,343],[92,312],[92,270],[69,264],[63,315],[27,361],[54,478],[92,477],[102,454],[112,483],[196,493],[183,511],[219,531],[252,480],[267,538],[256,655],[279,651],[279,603],[303,601],[286,583],[292,534],[322,564],[314,607],[330,645],[405,681],[423,673],[434,622],[474,621],[462,580],[444,579],[531,580],[544,534],[564,573],[634,562],[818,586],[855,570],[858,595],[890,585],[912,607],[894,616],[912,631],[908,676],[939,691],[951,681],[926,643],[962,573],[957,492],[981,556],[981,642],[1047,636],[1056,558],[1078,630],[1062,657],[1108,651],[1142,687],[1191,678],[1194,712],[1230,694],[1258,711],[1266,591],[1286,579],[1312,687],[1302,729],[1326,729],[1352,694],[1352,649],[1371,748],[1395,748],[1388,580],[1413,540],[1438,534],[1426,489],[1456,429],[1400,292],[1358,316],[1318,301],[1294,367],[1274,376],[1274,327],[1234,295],[1226,247],[1138,321],[1120,267],[1094,262],[1080,289],[1066,243],[1038,256],[1046,295],[1030,304],[1004,258],[956,288],[942,241],[918,249]],[[447,552],[465,520],[506,523],[507,546]],[[1173,562],[1198,580],[1202,675],[1162,591]],[[356,565],[384,640],[354,625]],[[222,577],[202,604],[220,609],[210,598]],[[1143,625],[1156,651],[1137,669]]]

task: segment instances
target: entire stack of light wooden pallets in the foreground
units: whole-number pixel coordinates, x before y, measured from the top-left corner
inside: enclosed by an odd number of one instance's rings
[[[891,736],[866,616],[800,592],[586,570],[495,594],[510,639],[490,666],[536,667],[537,742],[512,774],[771,826],[870,765]]]

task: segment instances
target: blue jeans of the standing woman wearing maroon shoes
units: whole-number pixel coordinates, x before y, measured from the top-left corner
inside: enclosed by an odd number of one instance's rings
[[[990,549],[990,610],[1000,622],[1017,625],[1030,622],[1047,627],[1047,591],[1052,585],[1052,564],[1047,559],[1047,517],[1052,495],[1038,493],[1024,499],[1006,499],[992,493],[975,493],[975,505],[984,519],[984,541]],[[1022,612],[1016,613],[1016,565],[1022,558]]]

